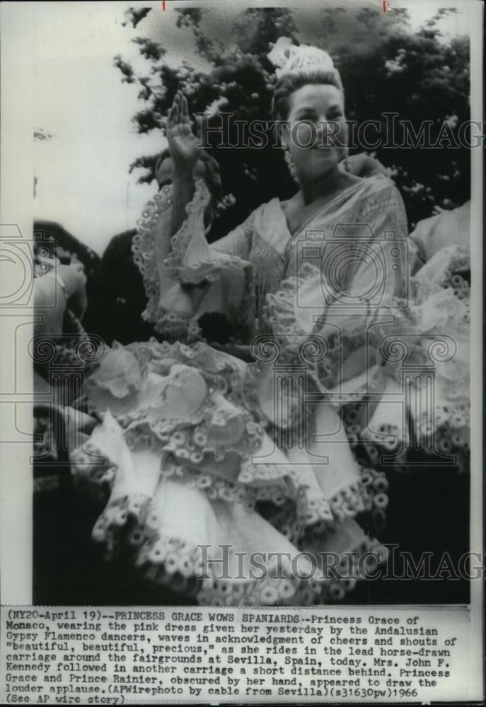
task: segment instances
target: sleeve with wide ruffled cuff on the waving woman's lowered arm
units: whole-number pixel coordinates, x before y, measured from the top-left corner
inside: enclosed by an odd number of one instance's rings
[[[312,363],[323,391],[349,382],[351,392],[351,382],[358,385],[376,362],[381,315],[395,328],[406,319],[400,307],[406,310],[407,221],[398,190],[386,185],[369,194],[332,233],[320,267],[303,264],[296,278],[267,296],[265,315],[290,348],[291,337],[308,337],[325,351]]]

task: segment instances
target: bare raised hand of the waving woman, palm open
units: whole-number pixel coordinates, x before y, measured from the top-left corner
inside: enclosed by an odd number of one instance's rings
[[[181,91],[175,94],[168,113],[166,137],[175,169],[193,170],[202,148],[192,132],[187,99]]]

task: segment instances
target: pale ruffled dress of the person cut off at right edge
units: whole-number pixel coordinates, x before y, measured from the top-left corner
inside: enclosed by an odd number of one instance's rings
[[[368,395],[342,410],[358,457],[381,469],[469,472],[469,234],[470,201],[410,234],[406,320],[378,328]]]

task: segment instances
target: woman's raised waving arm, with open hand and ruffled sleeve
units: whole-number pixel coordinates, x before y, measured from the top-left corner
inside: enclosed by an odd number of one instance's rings
[[[180,332],[199,311],[224,311],[230,318],[239,312],[248,279],[248,262],[242,261],[250,255],[252,218],[210,246],[204,214],[211,195],[204,180],[195,185],[201,148],[181,93],[168,115],[167,136],[173,184],[163,187],[147,205],[132,250],[149,298],[144,317],[161,332],[171,312],[178,318]]]

